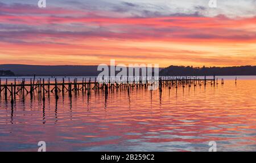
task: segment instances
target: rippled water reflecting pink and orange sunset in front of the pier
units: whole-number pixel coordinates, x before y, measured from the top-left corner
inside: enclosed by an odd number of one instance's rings
[[[222,77],[220,77],[222,78]],[[256,151],[256,78],[159,91],[0,100],[0,151]],[[231,80],[232,79],[232,80]],[[219,81],[220,82],[220,81]]]

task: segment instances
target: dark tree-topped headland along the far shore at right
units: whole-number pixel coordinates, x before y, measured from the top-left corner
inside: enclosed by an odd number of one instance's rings
[[[256,66],[193,67],[169,66],[159,72],[161,76],[204,76],[204,75],[256,75]]]

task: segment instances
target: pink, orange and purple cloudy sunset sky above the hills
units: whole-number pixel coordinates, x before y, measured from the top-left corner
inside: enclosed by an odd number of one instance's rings
[[[256,0],[1,0],[0,64],[256,65]]]

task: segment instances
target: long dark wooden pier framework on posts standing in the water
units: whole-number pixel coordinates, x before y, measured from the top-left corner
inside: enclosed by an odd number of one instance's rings
[[[122,78],[122,80],[121,80]],[[46,100],[46,96],[49,93],[54,93],[55,98],[58,99],[60,92],[68,93],[69,97],[72,97],[74,93],[82,92],[83,95],[86,93],[88,96],[91,91],[102,91],[105,94],[108,94],[110,91],[114,89],[121,89],[130,91],[133,88],[144,88],[148,90],[156,90],[162,91],[163,87],[178,88],[178,87],[196,87],[199,85],[217,85],[218,79],[213,76],[213,78],[208,79],[207,76],[204,76],[203,79],[192,77],[192,76],[160,76],[158,79],[148,78],[148,77],[121,77],[117,79],[117,77],[108,77],[105,78],[104,81],[98,81],[98,78],[73,78],[71,81],[70,78],[23,78],[17,79],[14,78],[12,81],[8,81],[10,79],[0,78],[0,97],[11,97],[11,104],[14,103],[15,96],[21,95],[25,96],[30,94],[31,98],[35,92],[38,93],[40,98],[44,101]],[[54,79],[54,80],[53,80]],[[58,80],[59,79],[59,80]],[[60,80],[61,79],[61,80]],[[80,79],[81,81],[78,81]],[[224,79],[221,79],[221,84],[224,84]]]

